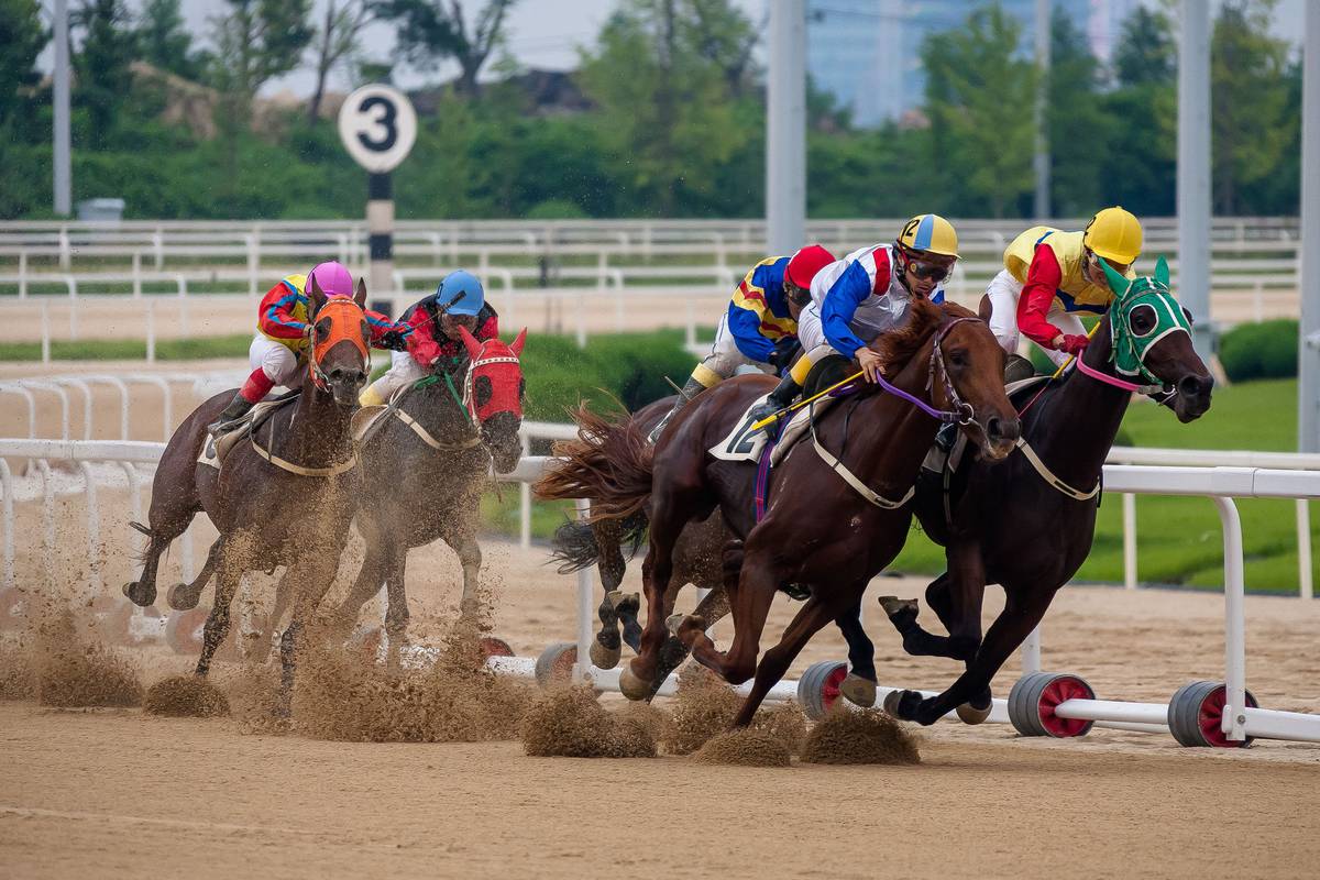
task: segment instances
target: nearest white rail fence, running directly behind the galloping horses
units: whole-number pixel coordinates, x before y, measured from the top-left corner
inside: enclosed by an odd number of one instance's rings
[[[50,549],[54,546],[57,537],[54,533],[54,519],[49,513],[53,497],[53,488],[46,476],[49,474],[49,463],[74,463],[82,471],[86,480],[84,492],[87,493],[88,566],[92,571],[92,586],[100,588],[100,512],[96,499],[96,479],[91,468],[94,464],[116,464],[121,467],[128,476],[129,507],[133,516],[140,517],[140,492],[144,475],[139,474],[137,467],[150,466],[157,462],[162,450],[164,445],[161,443],[145,442],[0,439],[0,492],[3,492],[4,503],[3,515],[0,515],[4,526],[3,586],[12,587],[15,583],[15,483],[5,463],[7,458],[26,458],[38,462],[38,470],[42,474],[44,544],[46,545],[48,554],[51,551]],[[524,458],[516,471],[504,479],[525,484],[540,475],[546,462],[548,459],[544,456]],[[1110,464],[1105,467],[1105,483],[1110,491],[1121,493],[1205,496],[1210,497],[1218,509],[1224,540],[1225,685],[1220,723],[1222,739],[1226,743],[1241,743],[1247,738],[1320,743],[1320,716],[1255,708],[1247,705],[1242,525],[1233,501],[1236,497],[1320,497],[1320,472],[1266,467]],[[586,503],[578,501],[578,511],[579,513],[585,512]],[[48,558],[48,565],[53,565],[53,559]],[[583,571],[578,578],[577,658],[590,656],[593,604],[593,577],[590,571]],[[507,658],[495,661],[495,665],[513,674],[529,676],[535,668],[535,661],[528,658]],[[1039,673],[1040,669],[1040,636],[1038,632],[1023,646],[1023,672],[1030,677],[1031,673]],[[810,674],[810,670],[808,673]],[[591,679],[601,689],[618,687],[618,672],[614,670],[601,670],[585,662],[576,661],[574,674],[579,678]],[[780,683],[772,691],[771,698],[801,698],[803,685],[808,677],[804,676],[801,682]],[[1022,681],[1026,682],[1027,677]],[[672,687],[673,682],[669,681],[661,693],[671,693]],[[882,687],[880,695],[883,697],[891,690],[895,689]],[[1007,701],[997,699],[989,720],[1014,720],[1012,716],[1016,715],[1018,718],[1014,723],[1020,727],[1024,712],[1034,715],[1039,711],[1041,712],[1041,718],[1048,712],[1051,719],[1084,719],[1122,730],[1159,732],[1175,727],[1175,710],[1185,712],[1187,706],[1184,703],[1187,701],[1183,699],[1185,690],[1179,690],[1168,705],[1071,698],[1053,705],[1041,702],[1039,705],[1031,703],[1030,706],[1023,706],[1018,701],[1016,706],[1010,707]],[[820,694],[816,695],[816,699],[818,702]],[[1011,695],[1010,699],[1016,698]],[[1041,732],[1044,732],[1044,728]]]

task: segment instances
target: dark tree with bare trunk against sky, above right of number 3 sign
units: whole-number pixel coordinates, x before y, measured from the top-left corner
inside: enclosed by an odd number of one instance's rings
[[[504,15],[516,0],[484,0],[467,26],[461,0],[376,0],[381,18],[399,28],[399,47],[411,63],[434,69],[446,58],[458,62],[461,95],[477,98],[477,75],[504,37]]]

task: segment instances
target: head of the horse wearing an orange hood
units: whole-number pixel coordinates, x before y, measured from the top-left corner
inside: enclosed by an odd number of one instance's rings
[[[358,280],[358,292],[350,299],[326,296],[315,276],[308,277],[312,381],[319,391],[334,394],[341,406],[356,406],[358,392],[367,384],[371,330],[363,313],[366,302],[367,285],[362,278]]]

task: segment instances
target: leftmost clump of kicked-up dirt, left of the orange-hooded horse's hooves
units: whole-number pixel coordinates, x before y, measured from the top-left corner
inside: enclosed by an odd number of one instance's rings
[[[103,644],[83,640],[71,611],[48,613],[36,644],[37,699],[44,706],[141,706],[137,668]]]

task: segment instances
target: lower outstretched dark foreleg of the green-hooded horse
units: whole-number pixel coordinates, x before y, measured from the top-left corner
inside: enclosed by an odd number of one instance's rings
[[[1008,654],[1022,645],[1045,616],[1056,590],[1057,587],[1035,590],[1026,595],[1023,591],[1008,590],[1003,611],[990,624],[975,660],[948,690],[925,699],[915,690],[895,691],[884,701],[884,707],[903,720],[933,724],[950,708],[975,702],[977,697],[990,690],[990,679],[1003,666]]]

